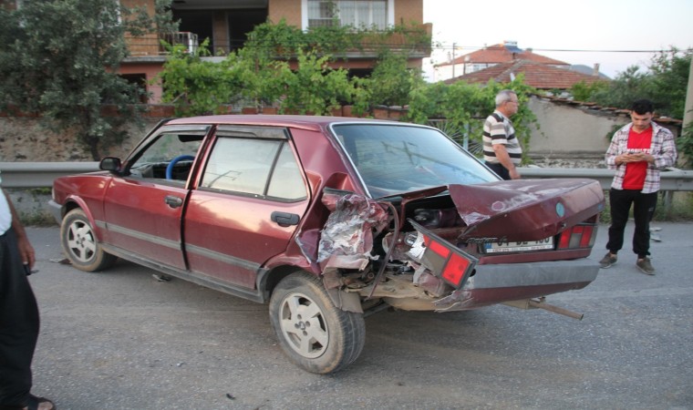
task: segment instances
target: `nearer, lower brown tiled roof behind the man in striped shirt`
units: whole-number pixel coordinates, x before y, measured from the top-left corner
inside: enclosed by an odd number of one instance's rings
[[[547,66],[527,60],[516,60],[509,63],[497,64],[464,76],[445,80],[446,84],[466,81],[470,84],[487,83],[493,79],[497,83],[509,83],[512,76],[524,74],[524,83],[537,89],[568,89],[574,84],[584,81],[592,84],[604,80],[600,77],[588,76],[566,68]]]

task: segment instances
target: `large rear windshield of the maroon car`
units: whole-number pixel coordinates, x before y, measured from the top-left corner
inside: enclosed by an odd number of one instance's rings
[[[402,124],[332,128],[373,198],[499,179],[435,128]]]

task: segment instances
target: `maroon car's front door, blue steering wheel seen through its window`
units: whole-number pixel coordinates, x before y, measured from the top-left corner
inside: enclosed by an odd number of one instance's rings
[[[149,261],[186,268],[181,218],[192,159],[208,128],[163,127],[128,159],[126,176],[111,179],[106,190],[107,243]]]

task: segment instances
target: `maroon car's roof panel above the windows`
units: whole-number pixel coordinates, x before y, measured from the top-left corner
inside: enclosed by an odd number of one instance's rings
[[[351,117],[322,117],[322,116],[296,116],[296,115],[220,115],[200,116],[189,118],[173,118],[166,125],[186,124],[217,124],[217,125],[253,125],[320,129],[337,123],[371,123],[371,124],[398,124],[397,121],[351,118]],[[399,123],[401,124],[401,123]]]

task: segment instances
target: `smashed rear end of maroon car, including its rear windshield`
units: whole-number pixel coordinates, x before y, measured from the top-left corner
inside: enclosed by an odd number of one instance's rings
[[[363,192],[323,191],[330,214],[317,250],[305,253],[338,309],[450,312],[506,303],[582,317],[544,297],[596,278],[598,266],[586,257],[604,209],[597,181],[501,180],[434,128],[330,130]],[[304,242],[301,234],[296,240]]]

